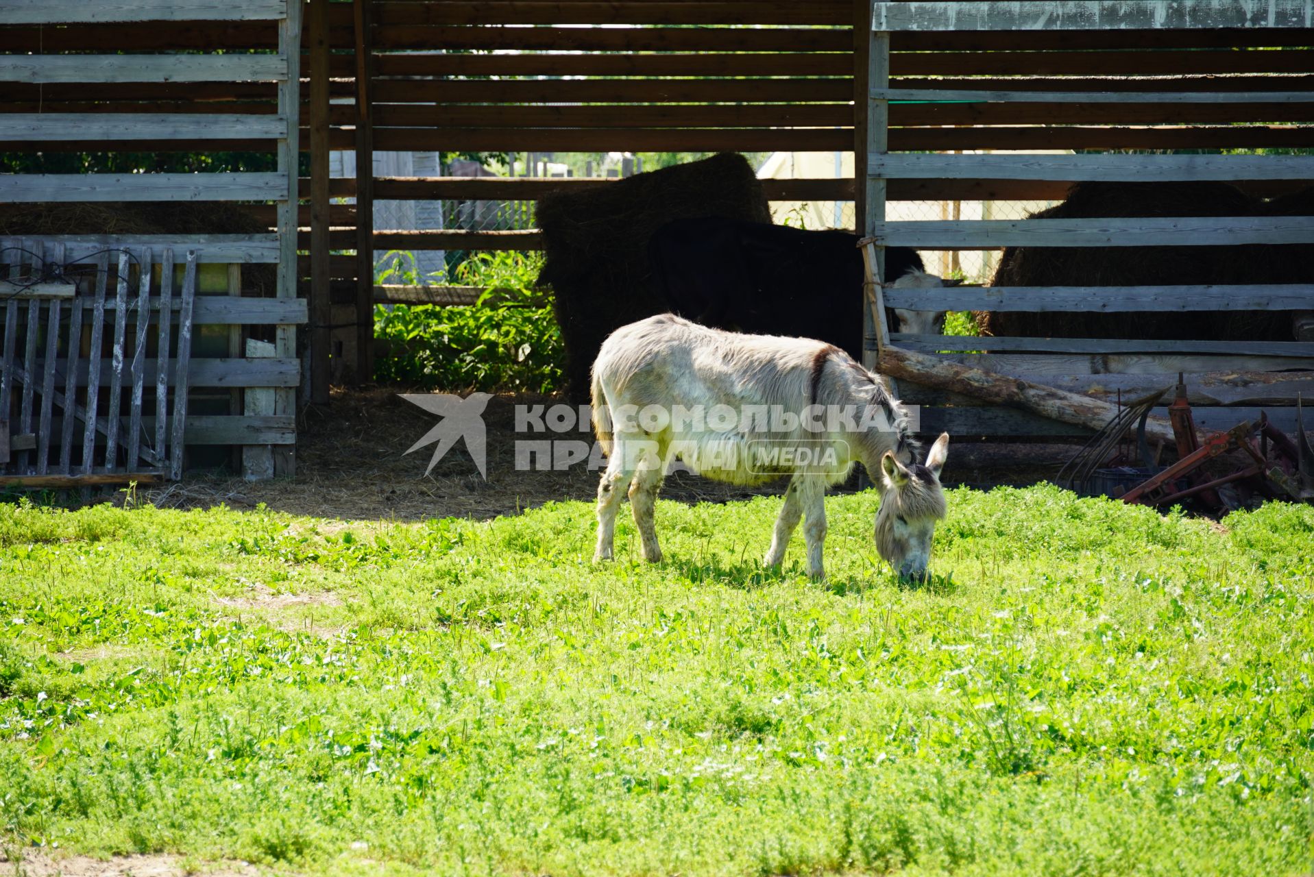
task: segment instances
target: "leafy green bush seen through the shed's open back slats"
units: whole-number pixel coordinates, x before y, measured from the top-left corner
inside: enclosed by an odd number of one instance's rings
[[[561,332],[551,295],[532,288],[539,253],[478,253],[455,282],[482,286],[476,305],[374,309],[374,337],[388,345],[374,379],[445,390],[552,393],[561,385]],[[393,282],[413,278],[388,273]]]

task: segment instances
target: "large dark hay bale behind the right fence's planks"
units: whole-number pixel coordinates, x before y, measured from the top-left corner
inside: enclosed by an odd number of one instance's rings
[[[1038,219],[1310,215],[1314,190],[1272,202],[1225,182],[1079,182]],[[1310,247],[1008,247],[992,286],[1314,282]],[[983,333],[1030,337],[1290,340],[1286,311],[978,314]]]

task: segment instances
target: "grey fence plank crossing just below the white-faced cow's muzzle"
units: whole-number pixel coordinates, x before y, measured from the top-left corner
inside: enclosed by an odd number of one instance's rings
[[[886,289],[887,307],[937,311],[1215,311],[1314,309],[1314,285],[947,286]]]

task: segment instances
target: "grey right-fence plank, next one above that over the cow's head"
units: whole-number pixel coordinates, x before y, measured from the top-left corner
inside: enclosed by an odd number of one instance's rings
[[[1310,93],[1314,100],[1314,92]],[[884,179],[1058,180],[1314,180],[1305,155],[876,155],[867,172]]]

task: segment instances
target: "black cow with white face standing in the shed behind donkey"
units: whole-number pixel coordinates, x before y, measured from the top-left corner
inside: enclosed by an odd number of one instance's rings
[[[858,235],[850,231],[719,217],[677,219],[652,236],[648,256],[657,294],[687,319],[753,335],[817,339],[862,360],[865,272]],[[913,286],[941,285],[924,268],[915,249],[886,249],[887,284],[915,273]],[[900,316],[907,322],[915,314],[922,312]]]

